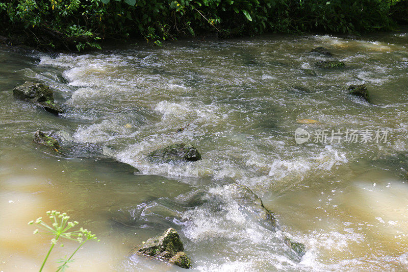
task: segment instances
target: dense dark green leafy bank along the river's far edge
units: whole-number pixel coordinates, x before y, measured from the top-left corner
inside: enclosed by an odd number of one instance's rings
[[[84,50],[100,39],[144,37],[161,45],[177,36],[221,38],[267,32],[360,34],[395,29],[405,0],[8,0],[3,35],[39,47]]]

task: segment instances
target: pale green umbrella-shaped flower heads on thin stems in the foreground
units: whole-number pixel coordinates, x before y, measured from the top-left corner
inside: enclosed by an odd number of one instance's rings
[[[65,259],[59,260],[59,262],[62,264],[58,267],[57,272],[64,271],[68,267],[68,263],[72,262],[73,255],[77,253],[81,246],[89,240],[97,240],[97,237],[95,236],[95,234],[92,234],[90,231],[83,228],[80,228],[79,230],[76,231],[69,231],[71,228],[78,225],[78,221],[68,221],[70,217],[65,212],[60,213],[57,211],[47,211],[47,216],[52,221],[51,226],[46,224],[42,220],[42,217],[37,218],[35,221],[33,220],[29,222],[29,225],[33,225],[34,223],[37,224],[37,226],[41,230],[45,231],[44,234],[50,234],[53,236],[53,238],[51,239],[51,246],[48,250],[47,255],[44,258],[44,261],[42,262],[40,272],[44,268],[45,262],[47,261],[49,254],[53,250],[54,246],[58,243],[60,238],[78,241],[80,243],[78,248],[69,256],[69,258],[65,257]],[[34,231],[34,234],[37,233],[39,233],[38,229]],[[64,246],[64,244],[61,243],[60,246]]]

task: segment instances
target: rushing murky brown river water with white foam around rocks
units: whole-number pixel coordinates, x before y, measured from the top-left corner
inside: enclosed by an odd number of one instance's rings
[[[402,32],[127,44],[86,55],[0,47],[0,270],[38,270],[49,240],[27,222],[47,210],[101,240],[83,246],[72,271],[183,270],[129,257],[169,227],[201,271],[406,269],[407,44]],[[327,59],[309,53],[316,46],[345,68],[315,69]],[[52,87],[65,113],[16,100],[12,89],[26,80]],[[371,104],[347,93],[363,83]],[[308,142],[295,142],[298,128]],[[70,154],[33,143],[37,130],[56,132]],[[359,131],[358,142],[347,130]],[[203,159],[146,159],[178,142]],[[235,183],[261,197],[280,230],[247,216]],[[284,235],[307,246],[300,261]],[[74,246],[56,249],[46,270]]]

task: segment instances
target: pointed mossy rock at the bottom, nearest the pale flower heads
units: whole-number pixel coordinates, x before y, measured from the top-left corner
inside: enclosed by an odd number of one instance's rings
[[[179,234],[169,228],[163,235],[150,238],[143,245],[136,246],[132,253],[162,258],[180,267],[190,268],[190,259],[183,251],[184,246]]]

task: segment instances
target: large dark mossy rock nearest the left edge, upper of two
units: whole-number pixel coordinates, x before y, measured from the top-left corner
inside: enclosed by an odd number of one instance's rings
[[[13,95],[34,103],[50,113],[58,115],[63,112],[61,107],[55,104],[53,91],[44,84],[26,81],[14,88]]]

